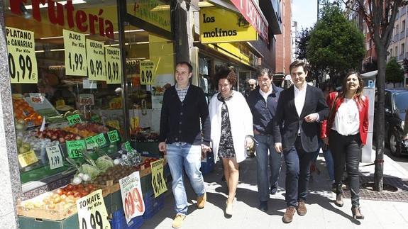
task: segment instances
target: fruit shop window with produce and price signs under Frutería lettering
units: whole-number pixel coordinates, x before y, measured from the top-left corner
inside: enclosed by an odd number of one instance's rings
[[[4,3],[21,183],[92,148],[114,155],[126,140],[116,1]]]

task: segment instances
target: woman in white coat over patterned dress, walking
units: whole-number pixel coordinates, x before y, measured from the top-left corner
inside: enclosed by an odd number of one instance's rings
[[[211,119],[212,149],[221,157],[224,176],[228,186],[226,215],[232,215],[232,204],[238,185],[238,163],[246,159],[246,149],[253,146],[252,113],[246,99],[233,90],[236,74],[230,69],[221,69],[215,76],[219,93],[209,103]]]

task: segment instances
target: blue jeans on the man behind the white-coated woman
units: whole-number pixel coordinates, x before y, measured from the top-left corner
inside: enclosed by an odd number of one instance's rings
[[[257,141],[255,151],[258,164],[256,173],[259,200],[268,201],[270,185],[277,185],[282,155],[276,152],[272,135],[255,135],[255,140]],[[270,164],[270,179],[268,179],[268,161]]]

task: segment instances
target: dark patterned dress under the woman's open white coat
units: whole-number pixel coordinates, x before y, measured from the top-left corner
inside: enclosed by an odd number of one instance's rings
[[[229,121],[228,107],[225,101],[231,99],[232,95],[224,99],[221,94],[218,94],[217,99],[222,102],[221,107],[221,138],[219,140],[219,157],[231,158],[235,157],[235,150],[233,149],[233,140],[231,133],[231,123]]]

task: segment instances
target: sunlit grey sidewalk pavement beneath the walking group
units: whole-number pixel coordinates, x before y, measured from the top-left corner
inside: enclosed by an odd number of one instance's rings
[[[384,155],[384,175],[408,180],[408,172],[396,162]],[[204,175],[207,190],[207,203],[203,209],[195,205],[197,196],[186,182],[187,198],[189,199],[188,216],[182,228],[408,228],[407,202],[370,201],[360,199],[360,207],[364,220],[355,220],[351,215],[351,200],[344,199],[344,206],[335,206],[333,200],[336,194],[331,192],[331,182],[324,158],[319,155],[319,175],[314,174],[314,181],[309,183],[309,195],[306,201],[306,216],[294,215],[292,223],[282,223],[285,213],[285,162],[282,160],[282,170],[279,179],[279,189],[275,195],[270,195],[269,211],[258,210],[258,189],[256,185],[256,158],[248,158],[240,164],[240,179],[233,205],[232,218],[224,217],[226,201],[226,183],[221,181],[223,174],[221,163],[217,162],[214,172]],[[374,173],[374,166],[362,167],[364,176]],[[188,179],[186,179],[188,180]],[[142,228],[171,228],[175,217],[174,200],[167,191],[165,206],[153,218],[145,220]]]

